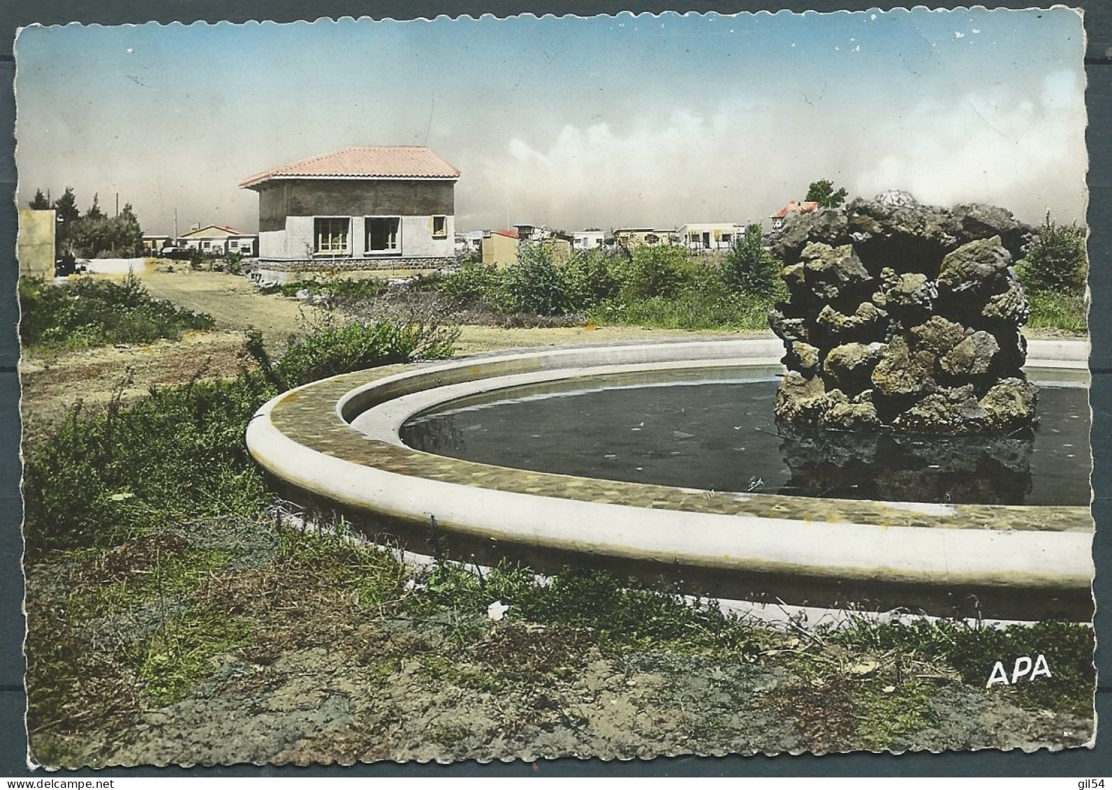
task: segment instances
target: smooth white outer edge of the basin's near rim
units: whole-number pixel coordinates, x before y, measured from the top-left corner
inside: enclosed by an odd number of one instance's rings
[[[276,476],[342,506],[494,540],[735,571],[803,572],[926,584],[1088,590],[1089,532],[1001,532],[876,526],[691,513],[492,491],[400,475],[327,456],[270,421],[247,432],[251,455]]]

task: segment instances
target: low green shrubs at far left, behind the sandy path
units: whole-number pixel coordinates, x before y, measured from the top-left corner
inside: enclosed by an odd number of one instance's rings
[[[80,278],[64,285],[20,278],[20,340],[29,348],[82,348],[179,339],[212,317],[156,299],[138,279]]]

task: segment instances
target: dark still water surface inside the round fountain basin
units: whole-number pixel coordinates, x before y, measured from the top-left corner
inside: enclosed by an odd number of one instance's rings
[[[778,368],[614,374],[490,389],[419,412],[415,450],[631,483],[887,502],[1085,505],[1085,377],[1040,384],[1035,429],[926,437],[778,426]],[[360,419],[353,421],[360,427]]]

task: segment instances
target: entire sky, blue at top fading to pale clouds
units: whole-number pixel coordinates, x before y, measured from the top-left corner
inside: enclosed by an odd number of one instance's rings
[[[20,200],[257,225],[258,170],[428,145],[457,226],[745,221],[833,178],[1084,213],[1080,17],[961,10],[28,28]]]

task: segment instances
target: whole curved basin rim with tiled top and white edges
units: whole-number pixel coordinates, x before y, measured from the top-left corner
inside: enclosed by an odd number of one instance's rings
[[[592,554],[812,577],[1088,590],[1088,507],[926,505],[731,494],[510,470],[421,453],[348,421],[469,382],[675,363],[768,365],[778,342],[699,340],[534,350],[391,366],[285,393],[248,429],[256,460],[338,505],[445,530]],[[1084,369],[1088,344],[1034,340],[1040,367]],[[1053,363],[1051,365],[1050,363]],[[405,409],[403,409],[404,412]],[[393,413],[400,424],[405,414]],[[388,422],[389,422],[388,421]]]

